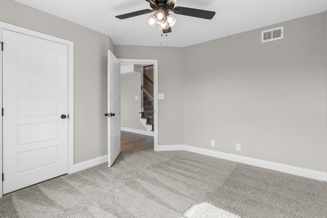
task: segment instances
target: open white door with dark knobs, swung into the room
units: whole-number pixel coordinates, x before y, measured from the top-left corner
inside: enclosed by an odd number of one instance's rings
[[[120,61],[108,51],[108,167],[121,153]]]

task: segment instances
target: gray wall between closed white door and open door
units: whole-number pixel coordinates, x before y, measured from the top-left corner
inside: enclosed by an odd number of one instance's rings
[[[11,0],[1,1],[0,21],[74,42],[74,163],[107,155],[110,37]]]

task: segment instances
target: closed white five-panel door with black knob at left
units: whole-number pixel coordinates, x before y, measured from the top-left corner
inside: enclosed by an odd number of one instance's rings
[[[3,30],[3,193],[68,171],[67,45]]]

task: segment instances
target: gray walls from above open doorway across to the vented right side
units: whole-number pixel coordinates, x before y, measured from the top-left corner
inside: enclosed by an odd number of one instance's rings
[[[261,43],[261,31],[280,26],[284,39]],[[158,92],[165,93],[159,145],[187,144],[323,172],[326,51],[326,13],[180,49],[115,45],[119,58],[158,59]]]

